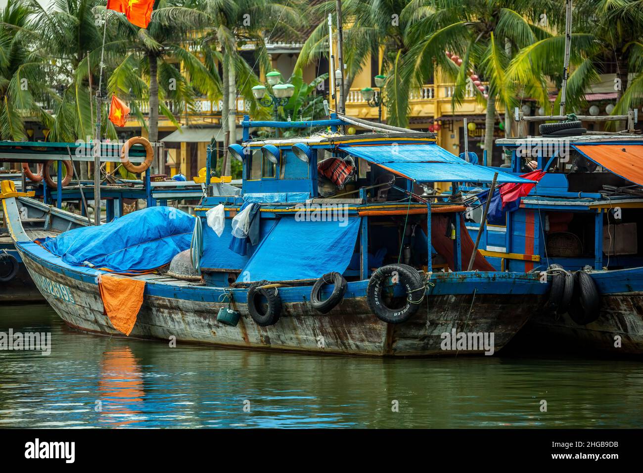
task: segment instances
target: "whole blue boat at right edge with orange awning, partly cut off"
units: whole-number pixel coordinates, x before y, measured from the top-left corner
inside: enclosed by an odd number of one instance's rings
[[[547,272],[561,288],[573,286],[571,299],[534,313],[521,342],[643,353],[643,139],[596,132],[504,138],[496,145],[510,156],[499,169],[547,174],[522,198],[520,209],[487,225],[482,253],[499,270]],[[467,222],[472,237],[479,214]]]

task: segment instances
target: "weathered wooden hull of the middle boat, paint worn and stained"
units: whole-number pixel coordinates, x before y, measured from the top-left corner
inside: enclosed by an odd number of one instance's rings
[[[51,270],[23,254],[23,259],[44,297],[62,320],[82,331],[122,336],[114,330],[103,313],[98,286],[82,281],[66,270]],[[48,288],[48,281],[64,286],[64,290]],[[360,282],[365,283],[365,282]],[[437,283],[437,285],[440,283]],[[449,284],[462,284],[445,282]],[[534,284],[537,284],[534,282]],[[353,286],[353,287],[350,287]],[[203,292],[203,286],[195,286]],[[377,319],[364,297],[365,284],[349,283],[349,293],[342,304],[329,314],[313,311],[308,302],[292,301],[292,290],[281,291],[284,300],[280,320],[269,327],[260,327],[248,313],[244,301],[233,304],[241,313],[236,327],[216,320],[219,292],[212,290],[210,300],[202,295],[192,298],[163,297],[146,290],[143,306],[130,337],[177,342],[212,344],[231,348],[276,349],[309,353],[376,356],[451,355],[458,350],[442,349],[443,333],[487,332],[494,334],[494,351],[501,349],[529,319],[541,303],[541,295],[532,295],[525,304],[524,294],[455,293],[427,297],[420,310],[406,324],[390,325]],[[306,290],[310,290],[307,288]],[[304,290],[305,291],[305,290]],[[68,293],[60,297],[56,292]],[[361,295],[359,295],[361,292]],[[350,294],[351,297],[348,297]],[[242,300],[243,293],[235,295]],[[300,301],[301,297],[298,297]],[[485,349],[460,350],[460,355],[484,353]]]

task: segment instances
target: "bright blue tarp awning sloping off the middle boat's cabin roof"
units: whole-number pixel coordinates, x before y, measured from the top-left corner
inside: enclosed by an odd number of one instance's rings
[[[496,172],[458,158],[435,143],[340,145],[340,149],[418,182],[491,182]],[[498,171],[497,182],[531,181]]]

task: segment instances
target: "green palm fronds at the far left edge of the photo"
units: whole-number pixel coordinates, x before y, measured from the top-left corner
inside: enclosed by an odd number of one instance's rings
[[[9,0],[0,11],[0,139],[23,141],[24,116],[37,116],[45,126],[51,116],[42,107],[52,91],[40,51],[31,41],[35,12],[23,0]]]

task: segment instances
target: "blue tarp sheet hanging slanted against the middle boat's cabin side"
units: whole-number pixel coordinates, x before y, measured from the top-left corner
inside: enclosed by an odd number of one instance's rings
[[[317,279],[331,271],[342,274],[349,267],[360,221],[297,221],[284,217],[259,244],[239,280],[296,281]]]

